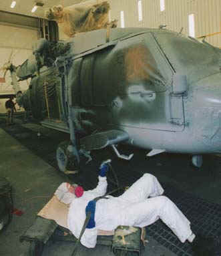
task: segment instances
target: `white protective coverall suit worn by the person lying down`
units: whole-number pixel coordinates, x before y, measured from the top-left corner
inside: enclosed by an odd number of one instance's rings
[[[67,216],[67,227],[79,238],[85,221],[85,207],[95,197],[103,196],[107,189],[106,177],[99,176],[97,187],[74,199]],[[97,241],[97,230],[112,231],[119,225],[145,227],[158,219],[170,227],[182,243],[191,235],[190,221],[170,199],[161,196],[164,189],[152,174],[144,174],[120,197],[107,196],[96,203],[95,227],[85,229],[81,244],[93,248]]]

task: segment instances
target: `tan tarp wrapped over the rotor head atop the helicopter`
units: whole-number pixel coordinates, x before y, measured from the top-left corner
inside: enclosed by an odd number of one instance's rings
[[[65,35],[73,37],[76,33],[116,27],[116,21],[109,23],[109,9],[107,1],[81,7],[55,5],[45,12],[45,17],[56,21]]]

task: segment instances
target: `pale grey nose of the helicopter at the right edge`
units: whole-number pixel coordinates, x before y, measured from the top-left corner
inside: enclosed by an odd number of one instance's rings
[[[195,132],[211,152],[221,152],[221,74],[194,85]]]

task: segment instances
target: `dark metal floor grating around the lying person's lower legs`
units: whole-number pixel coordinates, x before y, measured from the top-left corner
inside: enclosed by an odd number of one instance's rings
[[[190,220],[192,231],[206,237],[221,237],[221,205],[208,203],[189,193],[184,193],[170,184],[162,184],[165,195],[169,197]],[[161,245],[179,256],[192,256],[190,243],[181,243],[162,221],[157,221],[146,228],[148,235],[154,237]],[[219,251],[220,250],[220,251]],[[221,255],[221,248],[217,256]]]

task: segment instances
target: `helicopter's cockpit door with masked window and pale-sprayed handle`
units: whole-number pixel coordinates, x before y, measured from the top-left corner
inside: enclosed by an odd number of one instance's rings
[[[118,63],[122,63],[124,82],[122,79],[118,84],[118,97],[112,102],[114,122],[120,126],[182,131],[183,97],[170,92],[174,72],[152,33],[120,41],[115,54],[120,58]]]

